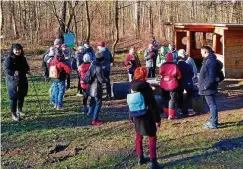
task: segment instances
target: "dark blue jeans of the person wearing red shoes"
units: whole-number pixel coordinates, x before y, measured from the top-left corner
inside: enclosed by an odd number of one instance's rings
[[[98,120],[101,106],[102,106],[102,98],[91,97],[89,113],[93,114],[92,120]]]

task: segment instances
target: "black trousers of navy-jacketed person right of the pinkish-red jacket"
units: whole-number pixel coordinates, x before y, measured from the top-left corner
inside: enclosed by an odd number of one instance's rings
[[[184,89],[178,90],[178,108],[183,111],[183,114],[188,114],[188,109],[192,110],[192,97],[193,97],[193,90],[192,89],[185,89],[186,90],[186,99],[184,101]]]

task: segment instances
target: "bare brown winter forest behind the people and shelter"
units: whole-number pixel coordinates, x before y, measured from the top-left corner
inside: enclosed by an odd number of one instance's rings
[[[243,23],[240,1],[1,1],[2,46],[51,45],[70,29],[76,42],[172,40],[166,23]],[[147,42],[146,42],[147,43]],[[145,44],[146,44],[145,43]]]

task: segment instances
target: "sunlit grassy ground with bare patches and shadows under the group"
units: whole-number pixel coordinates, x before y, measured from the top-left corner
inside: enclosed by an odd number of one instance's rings
[[[118,67],[113,81],[126,79]],[[65,109],[56,111],[49,104],[50,83],[44,83],[38,74],[29,77],[23,109],[26,116],[21,122],[12,122],[1,79],[1,168],[149,168],[136,164],[135,132],[127,118],[126,100],[104,101],[100,116],[105,124],[93,127],[91,118],[80,113],[82,97],[76,96],[76,86],[73,80],[65,96]],[[229,82],[221,88],[217,130],[203,128],[207,113],[174,121],[163,119],[157,135],[158,161],[168,169],[243,168],[242,86],[242,82]],[[148,155],[147,139],[144,150]]]

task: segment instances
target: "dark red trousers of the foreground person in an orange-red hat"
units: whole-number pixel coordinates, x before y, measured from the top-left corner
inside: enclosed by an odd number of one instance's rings
[[[149,140],[149,156],[150,159],[156,158],[156,136],[148,136]],[[136,133],[136,153],[138,156],[143,156],[143,136]]]

